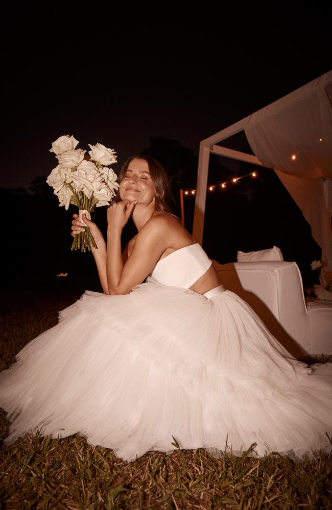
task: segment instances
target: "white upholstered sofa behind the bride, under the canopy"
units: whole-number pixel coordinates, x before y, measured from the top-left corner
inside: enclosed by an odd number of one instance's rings
[[[295,262],[212,262],[225,288],[245,299],[297,359],[332,354],[332,302],[306,305]]]

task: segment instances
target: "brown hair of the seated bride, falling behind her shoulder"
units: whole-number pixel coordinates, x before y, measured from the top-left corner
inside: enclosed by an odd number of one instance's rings
[[[123,180],[125,173],[128,169],[128,166],[134,159],[140,159],[144,160],[148,163],[149,172],[151,175],[151,179],[153,181],[153,184],[155,186],[156,192],[155,192],[155,207],[157,211],[164,211],[167,213],[172,212],[168,201],[172,199],[171,194],[171,186],[169,182],[169,178],[165,170],[162,168],[160,163],[156,161],[152,156],[132,156],[129,158],[129,160],[126,161],[126,163],[123,165],[123,167],[120,170],[120,173],[118,174],[118,182],[121,183]],[[119,202],[121,200],[120,193],[117,194],[116,198],[114,199],[114,202]]]

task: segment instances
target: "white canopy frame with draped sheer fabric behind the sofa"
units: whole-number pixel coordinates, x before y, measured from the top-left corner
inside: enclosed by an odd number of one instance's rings
[[[216,145],[243,130],[255,156]],[[201,141],[193,230],[199,242],[210,152],[273,168],[332,270],[332,71]]]

